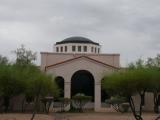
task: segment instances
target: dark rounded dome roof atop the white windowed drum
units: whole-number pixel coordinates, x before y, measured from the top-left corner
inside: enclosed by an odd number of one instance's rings
[[[66,38],[66,39],[64,39],[64,40],[62,40],[60,42],[56,42],[56,45],[64,44],[64,43],[86,43],[86,44],[99,45],[99,43],[93,42],[92,40],[90,40],[88,38],[79,37],[79,36]]]

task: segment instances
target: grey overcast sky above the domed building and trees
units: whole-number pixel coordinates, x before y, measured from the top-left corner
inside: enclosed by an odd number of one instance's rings
[[[121,65],[160,53],[160,0],[0,0],[0,54],[24,44],[38,53],[55,42],[87,37]]]

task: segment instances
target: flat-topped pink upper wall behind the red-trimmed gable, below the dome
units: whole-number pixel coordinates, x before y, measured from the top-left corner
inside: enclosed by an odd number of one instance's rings
[[[48,53],[41,52],[41,69],[44,70],[46,66],[50,66],[56,63],[63,62],[65,60],[73,59],[78,56],[88,56],[92,59],[98,60],[100,62],[120,67],[119,54],[66,54],[66,53]]]

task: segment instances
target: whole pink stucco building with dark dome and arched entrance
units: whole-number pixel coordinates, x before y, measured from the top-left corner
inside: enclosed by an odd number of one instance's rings
[[[53,52],[41,52],[41,69],[53,74],[61,96],[92,96],[95,111],[101,110],[103,101],[101,80],[120,68],[120,54],[102,53],[101,47],[85,37],[69,37],[56,42]]]

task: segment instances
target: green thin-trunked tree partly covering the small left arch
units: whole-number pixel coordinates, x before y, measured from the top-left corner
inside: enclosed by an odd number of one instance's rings
[[[34,119],[35,114],[38,111],[41,98],[44,98],[47,95],[56,97],[59,94],[59,89],[57,88],[53,77],[40,71],[34,66],[32,67],[32,72],[30,73],[31,78],[28,79],[28,85],[26,89],[26,94],[34,97],[34,112],[31,120]]]

